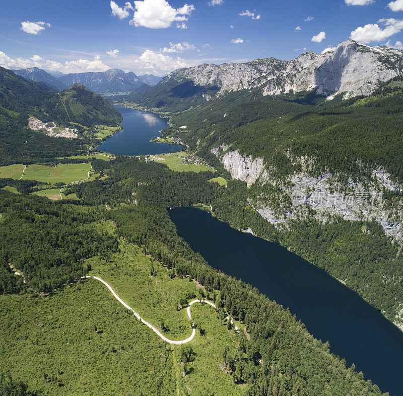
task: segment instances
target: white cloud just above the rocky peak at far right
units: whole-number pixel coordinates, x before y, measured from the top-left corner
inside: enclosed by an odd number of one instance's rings
[[[385,27],[382,29],[379,27],[378,23],[381,23]],[[358,27],[351,32],[350,38],[364,43],[382,41],[403,29],[403,20],[394,18],[380,19],[378,23]]]

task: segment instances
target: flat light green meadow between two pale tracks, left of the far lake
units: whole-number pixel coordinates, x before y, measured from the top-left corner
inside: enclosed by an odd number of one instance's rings
[[[23,179],[43,183],[72,183],[87,179],[89,171],[91,171],[89,163],[60,163],[57,166],[34,164],[27,166]]]

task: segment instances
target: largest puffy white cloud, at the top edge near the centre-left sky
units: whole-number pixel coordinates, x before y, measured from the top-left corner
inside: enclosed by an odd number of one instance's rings
[[[172,22],[181,22],[177,27],[186,29],[184,22],[194,11],[194,6],[191,4],[173,8],[166,0],[137,0],[134,3],[136,11],[130,24],[150,29],[167,28],[172,25]]]

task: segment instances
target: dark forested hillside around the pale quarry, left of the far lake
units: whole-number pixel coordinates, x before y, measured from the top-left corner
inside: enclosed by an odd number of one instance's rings
[[[60,93],[44,83],[27,81],[0,68],[0,164],[32,163],[75,155],[89,144],[88,138],[55,139],[28,128],[28,118],[70,122],[84,126],[117,125],[121,115],[105,99],[83,86]]]

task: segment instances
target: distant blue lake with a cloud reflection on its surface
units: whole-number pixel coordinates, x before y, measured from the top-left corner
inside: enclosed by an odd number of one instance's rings
[[[179,144],[154,143],[168,123],[150,111],[115,106],[123,116],[123,129],[103,141],[97,149],[115,155],[162,154],[183,150]]]

